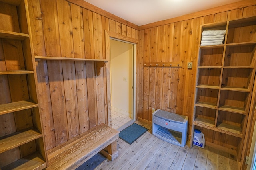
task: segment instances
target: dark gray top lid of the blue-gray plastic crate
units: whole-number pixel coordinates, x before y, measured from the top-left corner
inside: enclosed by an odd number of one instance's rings
[[[178,114],[171,113],[168,111],[163,111],[163,110],[158,110],[154,115],[156,117],[159,117],[160,119],[164,119],[166,121],[172,121],[180,124],[183,124],[183,121],[186,118],[186,116],[178,115]]]

